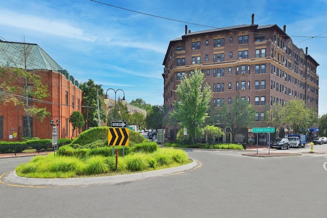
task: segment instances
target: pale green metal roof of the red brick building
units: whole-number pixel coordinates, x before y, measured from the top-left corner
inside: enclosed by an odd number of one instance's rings
[[[37,44],[10,41],[0,41],[0,65],[27,70],[63,70]]]

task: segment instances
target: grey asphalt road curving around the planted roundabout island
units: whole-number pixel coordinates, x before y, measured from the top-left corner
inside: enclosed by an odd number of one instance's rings
[[[38,187],[2,178],[0,217],[325,217],[323,146],[268,158],[188,150],[194,169],[116,184]],[[30,158],[0,159],[1,175]]]

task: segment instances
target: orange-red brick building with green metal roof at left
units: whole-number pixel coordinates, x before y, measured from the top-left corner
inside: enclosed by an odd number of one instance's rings
[[[46,111],[51,113],[49,117],[45,117],[43,122],[33,118],[31,122],[32,136],[51,139],[50,120],[53,119],[55,125],[59,120],[58,139],[71,138],[72,126],[68,120],[69,116],[73,111],[81,112],[82,91],[79,89],[79,83],[36,44],[0,41],[0,65],[25,69],[24,64],[21,63],[24,49],[29,51],[29,57],[25,59],[27,70],[41,76],[41,82],[48,85],[50,94],[49,97],[42,99],[41,103],[37,102],[37,99],[31,100],[32,105],[46,107]],[[5,79],[0,78],[0,84]],[[6,95],[6,93],[0,90],[0,97],[1,95]],[[24,108],[16,107],[13,103],[4,105],[0,101],[0,141],[22,140],[22,137],[26,136],[26,126]],[[77,131],[74,133],[74,137],[77,137]]]

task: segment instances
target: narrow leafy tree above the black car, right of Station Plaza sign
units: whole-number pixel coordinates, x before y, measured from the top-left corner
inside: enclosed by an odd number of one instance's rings
[[[283,112],[283,105],[280,103],[274,104],[270,110],[266,112],[266,122],[270,127],[275,127],[274,138],[279,136],[279,133],[285,126],[285,114]]]

